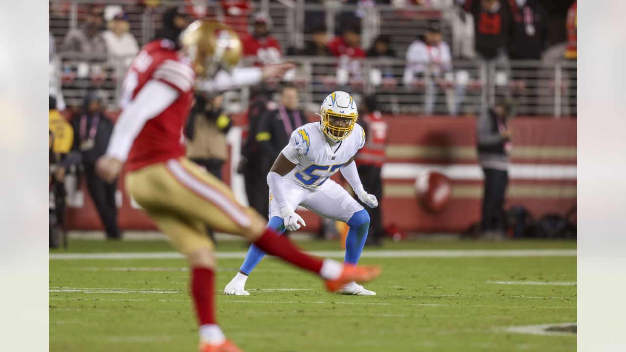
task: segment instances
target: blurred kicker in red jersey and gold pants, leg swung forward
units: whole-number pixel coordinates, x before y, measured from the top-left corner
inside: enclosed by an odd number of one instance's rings
[[[185,157],[182,131],[192,107],[196,75],[212,78],[218,66],[232,68],[242,48],[237,34],[223,24],[196,21],[180,33],[176,23],[180,16],[168,14],[164,16],[164,28],[169,31],[146,44],[126,74],[123,110],[96,169],[110,181],[118,177],[126,163],[129,194],[187,257],[200,352],[236,352],[240,349],[225,338],[215,320],[216,261],[205,226],[243,236],[273,256],[316,272],[326,280],[329,291],[339,290],[346,282],[373,279],[380,269],[343,266],[330,259],[307,256],[287,237],[265,229],[264,219],[238,204],[227,185]],[[177,31],[180,36],[173,36]],[[259,70],[259,80],[263,76],[263,69],[250,70]],[[245,79],[238,81],[234,75],[217,81],[213,79],[204,86],[232,86]]]

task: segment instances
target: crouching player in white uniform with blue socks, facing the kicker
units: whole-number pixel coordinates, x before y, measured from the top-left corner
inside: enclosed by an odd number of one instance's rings
[[[305,226],[302,217],[295,213],[298,205],[327,219],[346,222],[350,230],[344,262],[356,265],[367,238],[369,215],[343,187],[329,178],[341,171],[357,197],[367,206],[377,207],[376,197],[363,189],[354,163],[354,155],[365,143],[365,132],[356,125],[359,117],[356,102],[344,91],[327,96],[319,116],[321,122],[307,123],[291,134],[289,143],[267,175],[270,186],[267,227],[282,234],[285,229],[294,231]],[[265,252],[253,244],[224,293],[249,295],[245,281],[264,256]],[[361,296],[376,294],[356,282],[344,285],[339,292]]]

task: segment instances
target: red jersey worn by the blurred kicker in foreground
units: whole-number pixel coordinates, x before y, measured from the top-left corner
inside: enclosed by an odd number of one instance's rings
[[[172,105],[143,125],[128,154],[127,170],[185,155],[183,127],[192,108],[195,83],[191,61],[168,39],[158,39],[143,46],[124,78],[121,108],[130,103],[150,80],[172,86],[179,95]]]

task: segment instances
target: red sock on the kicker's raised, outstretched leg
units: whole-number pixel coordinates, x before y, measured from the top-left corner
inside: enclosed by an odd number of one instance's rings
[[[265,232],[254,244],[267,254],[280,257],[302,269],[316,273],[319,273],[322,269],[322,261],[320,259],[304,254],[286,236],[279,236],[274,230],[265,229]]]

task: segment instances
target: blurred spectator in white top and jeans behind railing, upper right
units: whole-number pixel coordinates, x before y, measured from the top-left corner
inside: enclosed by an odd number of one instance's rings
[[[435,111],[437,91],[446,94],[450,115],[457,115],[464,97],[465,85],[456,84],[452,70],[452,54],[443,41],[441,23],[430,21],[423,38],[416,39],[406,51],[404,85],[424,87],[424,113]]]

